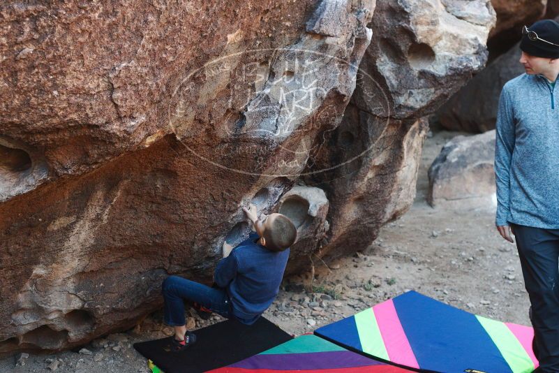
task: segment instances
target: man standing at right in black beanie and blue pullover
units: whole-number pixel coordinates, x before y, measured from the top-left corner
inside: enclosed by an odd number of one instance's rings
[[[502,88],[495,136],[495,226],[514,242],[530,297],[537,372],[559,372],[559,24],[523,27],[526,73]]]

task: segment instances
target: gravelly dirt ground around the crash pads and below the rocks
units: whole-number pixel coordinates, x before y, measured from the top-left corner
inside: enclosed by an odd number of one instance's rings
[[[412,289],[475,314],[529,325],[516,245],[496,231],[495,207],[442,210],[425,201],[428,167],[458,134],[430,133],[415,202],[401,219],[384,226],[368,249],[332,263],[316,261],[314,276],[307,272],[285,279],[264,316],[301,335]],[[170,335],[162,319],[161,310],[154,312],[135,329],[96,339],[81,353],[17,354],[0,360],[0,372],[149,372],[132,344]],[[200,328],[220,319],[193,316],[190,321]]]

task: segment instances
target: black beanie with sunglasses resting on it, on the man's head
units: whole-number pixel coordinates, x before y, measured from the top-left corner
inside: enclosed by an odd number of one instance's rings
[[[535,31],[540,39],[559,44],[559,23],[554,20],[537,21],[528,27],[528,31]],[[528,35],[523,35],[520,41],[520,49],[535,57],[559,58],[559,47],[545,41],[531,41]]]

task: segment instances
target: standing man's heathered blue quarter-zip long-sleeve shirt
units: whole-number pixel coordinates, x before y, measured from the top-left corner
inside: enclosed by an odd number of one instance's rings
[[[559,228],[559,96],[544,75],[509,80],[495,124],[495,225]]]

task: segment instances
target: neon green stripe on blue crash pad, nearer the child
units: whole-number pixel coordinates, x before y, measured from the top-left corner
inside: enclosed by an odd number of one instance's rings
[[[365,309],[355,314],[353,317],[355,318],[355,325],[357,325],[362,351],[389,361],[390,359],[388,358],[385,342],[382,340],[382,335],[380,335],[380,329],[378,328],[373,309]]]

